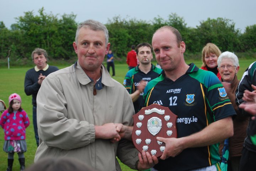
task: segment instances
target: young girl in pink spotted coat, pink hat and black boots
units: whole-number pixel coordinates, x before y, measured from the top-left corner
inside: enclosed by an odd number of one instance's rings
[[[9,108],[1,115],[0,126],[4,129],[4,151],[8,153],[7,171],[12,170],[14,153],[18,154],[20,170],[25,170],[25,156],[27,151],[26,128],[30,125],[27,113],[21,108],[21,97],[17,93],[9,96]]]

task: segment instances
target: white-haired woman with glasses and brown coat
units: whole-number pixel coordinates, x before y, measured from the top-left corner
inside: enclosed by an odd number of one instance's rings
[[[233,117],[234,136],[229,138],[229,160],[228,167],[231,171],[238,171],[241,159],[241,151],[246,137],[246,128],[249,118],[241,116],[238,106],[235,103],[235,91],[238,87],[239,80],[236,74],[239,71],[238,57],[229,51],[220,54],[218,60],[218,71],[226,93],[236,111],[236,117]],[[220,143],[220,154],[223,149],[224,142]],[[231,167],[231,168],[230,168]]]

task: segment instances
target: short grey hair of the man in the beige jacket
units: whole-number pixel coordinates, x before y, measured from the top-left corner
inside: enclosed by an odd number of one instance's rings
[[[79,36],[79,31],[80,31],[81,28],[89,28],[93,31],[103,31],[104,34],[105,34],[106,47],[107,47],[107,44],[108,44],[108,30],[107,30],[106,26],[104,26],[104,24],[102,24],[98,21],[95,21],[95,20],[86,20],[86,21],[80,23],[78,25],[77,30],[76,30],[76,37],[75,37],[76,44],[78,44],[78,36]]]

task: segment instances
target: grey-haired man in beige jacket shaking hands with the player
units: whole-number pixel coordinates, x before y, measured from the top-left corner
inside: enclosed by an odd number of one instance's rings
[[[93,20],[81,23],[73,46],[78,61],[48,75],[38,92],[40,140],[34,161],[68,156],[98,171],[121,170],[116,156],[132,169],[158,162],[144,151],[139,160],[127,140],[133,104],[127,90],[102,65],[110,48],[107,28]]]

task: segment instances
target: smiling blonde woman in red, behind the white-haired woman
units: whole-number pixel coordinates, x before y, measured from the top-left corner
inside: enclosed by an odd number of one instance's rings
[[[207,43],[202,50],[202,62],[201,69],[206,71],[212,71],[221,80],[220,73],[218,72],[217,60],[221,51],[218,46],[213,43]]]

